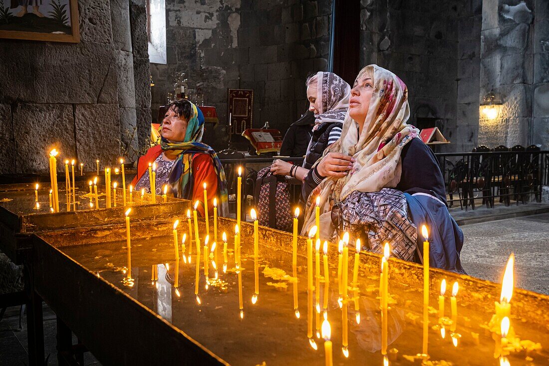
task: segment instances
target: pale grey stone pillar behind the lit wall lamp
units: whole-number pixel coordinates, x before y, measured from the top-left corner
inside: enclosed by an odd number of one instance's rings
[[[531,141],[533,3],[483,1],[479,97],[482,101],[493,90],[503,106],[496,119],[480,115],[479,144],[512,147]]]

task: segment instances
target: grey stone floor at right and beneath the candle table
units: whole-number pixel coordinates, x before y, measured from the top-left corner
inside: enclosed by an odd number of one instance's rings
[[[509,253],[514,252],[516,286],[549,295],[549,204],[477,207],[467,212],[452,208],[450,212],[462,225],[465,242],[461,260],[469,275],[500,282]],[[497,220],[501,218],[506,219]],[[8,308],[0,321],[0,366],[27,364],[25,318],[23,330],[18,328],[19,307]],[[57,365],[55,331],[55,314],[44,304],[48,365]],[[76,343],[76,338],[73,342]],[[85,364],[99,365],[99,362],[88,352]]]

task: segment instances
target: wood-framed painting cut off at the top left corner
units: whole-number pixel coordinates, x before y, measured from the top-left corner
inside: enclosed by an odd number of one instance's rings
[[[77,0],[0,0],[0,38],[80,42]]]

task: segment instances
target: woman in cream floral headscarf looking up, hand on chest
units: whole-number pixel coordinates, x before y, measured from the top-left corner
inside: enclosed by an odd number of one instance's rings
[[[389,70],[368,65],[351,90],[341,138],[324,151],[304,179],[302,234],[315,225],[320,197],[323,239],[343,231],[360,237],[362,249],[421,262],[418,229],[429,228],[433,267],[463,273],[463,234],[446,207],[444,179],[433,152],[410,117],[408,90]]]

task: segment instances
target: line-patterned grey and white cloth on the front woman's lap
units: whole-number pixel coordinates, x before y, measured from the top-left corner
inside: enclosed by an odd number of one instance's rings
[[[354,191],[334,205],[332,223],[340,236],[349,231],[351,237],[360,238],[363,250],[383,254],[383,246],[389,242],[391,256],[414,259],[417,230],[408,218],[406,196],[401,191]]]

